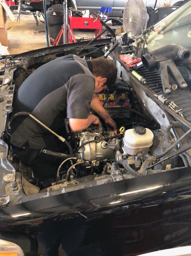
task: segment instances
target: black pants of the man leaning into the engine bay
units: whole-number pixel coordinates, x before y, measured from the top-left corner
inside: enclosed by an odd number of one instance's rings
[[[46,149],[56,152],[58,145],[55,138],[50,136],[49,142],[49,146]],[[59,162],[55,157],[43,154],[41,152],[42,149],[30,148],[28,142],[22,148],[15,147],[14,145],[11,146],[14,154],[23,164],[31,167],[34,177],[38,180],[47,180],[56,176]]]

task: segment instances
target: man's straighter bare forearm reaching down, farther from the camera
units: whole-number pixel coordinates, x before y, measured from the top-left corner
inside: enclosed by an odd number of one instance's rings
[[[96,94],[93,94],[92,101],[90,104],[90,108],[95,111],[101,118],[105,121],[107,127],[113,128],[113,130],[117,130],[117,124],[114,120],[109,116],[105,108],[101,105],[100,100],[98,99]]]

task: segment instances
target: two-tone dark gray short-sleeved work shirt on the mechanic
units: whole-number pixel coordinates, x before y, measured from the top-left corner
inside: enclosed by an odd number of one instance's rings
[[[13,114],[26,111],[53,131],[64,118],[86,119],[95,80],[92,63],[70,54],[52,60],[37,68],[14,95]],[[30,148],[46,148],[43,136],[47,130],[31,117],[17,117],[11,123],[11,143],[21,148],[26,142]]]

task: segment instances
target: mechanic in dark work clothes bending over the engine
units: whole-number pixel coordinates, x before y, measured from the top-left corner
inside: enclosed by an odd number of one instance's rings
[[[30,112],[54,132],[64,124],[64,118],[69,118],[71,130],[78,132],[91,124],[99,125],[99,118],[90,114],[91,108],[108,128],[116,130],[116,123],[96,95],[114,84],[116,77],[112,60],[86,61],[73,54],[57,58],[27,77],[14,95],[12,114]],[[35,178],[46,180],[56,175],[58,165],[40,152],[44,148],[56,152],[58,139],[33,119],[15,118],[10,141],[13,152],[32,168]]]

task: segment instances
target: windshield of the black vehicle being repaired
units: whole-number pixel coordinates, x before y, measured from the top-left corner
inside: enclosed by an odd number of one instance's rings
[[[146,34],[147,50],[166,44],[180,44],[191,50],[191,1],[183,4]]]

